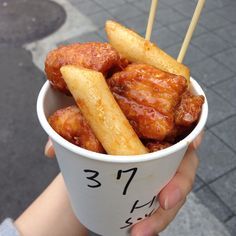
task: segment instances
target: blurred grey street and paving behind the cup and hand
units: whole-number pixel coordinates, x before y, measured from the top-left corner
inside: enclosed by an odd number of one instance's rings
[[[177,57],[196,3],[159,0],[151,41]],[[0,221],[16,218],[59,172],[44,156],[36,115],[47,52],[106,41],[107,19],[144,35],[149,8],[150,0],[0,0]],[[210,111],[193,191],[163,235],[236,235],[235,13],[235,0],[206,0],[184,61]]]

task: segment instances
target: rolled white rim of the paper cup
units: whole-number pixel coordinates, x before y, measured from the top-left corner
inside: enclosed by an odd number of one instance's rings
[[[193,129],[193,131],[189,135],[187,135],[184,139],[182,139],[178,143],[176,143],[168,148],[165,148],[163,150],[159,150],[159,151],[152,152],[152,153],[141,154],[141,155],[130,155],[130,156],[118,156],[118,155],[108,155],[108,154],[96,153],[96,152],[86,150],[84,148],[80,148],[80,147],[70,143],[69,141],[67,141],[63,137],[61,137],[49,125],[49,123],[47,121],[47,117],[44,113],[45,97],[46,97],[46,94],[49,91],[50,86],[51,86],[49,81],[46,81],[44,83],[43,87],[41,88],[41,90],[39,92],[38,99],[37,99],[37,115],[38,115],[38,119],[39,119],[41,126],[46,131],[46,133],[49,135],[49,137],[52,140],[54,140],[55,142],[57,142],[58,144],[60,144],[61,146],[63,146],[64,148],[68,149],[69,151],[71,151],[77,155],[87,157],[90,159],[94,159],[97,161],[103,161],[103,162],[133,163],[133,162],[150,161],[153,159],[163,158],[165,156],[171,155],[171,154],[177,152],[178,150],[181,150],[185,146],[188,146],[197,137],[197,135],[203,130],[203,128],[206,124],[206,121],[207,121],[207,116],[208,116],[207,99],[206,99],[204,91],[202,90],[200,85],[193,78],[190,78],[190,83],[197,94],[203,95],[205,97],[205,102],[202,107],[202,112],[201,112],[201,116],[198,121],[198,124],[195,126],[195,128]]]

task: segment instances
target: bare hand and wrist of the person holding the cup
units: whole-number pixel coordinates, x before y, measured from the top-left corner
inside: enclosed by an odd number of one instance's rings
[[[175,176],[159,195],[160,208],[149,218],[134,225],[131,236],[153,236],[163,231],[175,218],[194,184],[199,164],[195,150],[201,143],[201,133],[189,146]],[[53,158],[51,141],[45,154]],[[86,228],[75,217],[67,190],[59,174],[46,190],[16,219],[15,225],[23,236],[87,236]]]

